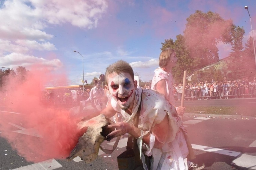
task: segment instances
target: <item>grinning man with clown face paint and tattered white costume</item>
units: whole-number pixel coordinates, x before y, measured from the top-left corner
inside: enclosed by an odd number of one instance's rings
[[[142,91],[137,87],[133,69],[127,62],[120,60],[110,65],[105,77],[111,101],[101,113],[112,117],[120,112],[125,120],[108,125],[108,128],[115,130],[106,136],[107,140],[129,133],[138,140],[140,149],[146,149],[144,154],[153,157],[151,169],[187,170],[188,148],[180,129],[182,121],[175,107],[157,91]],[[140,105],[139,123],[136,127],[134,122]],[[143,168],[148,169],[144,154],[141,153]]]

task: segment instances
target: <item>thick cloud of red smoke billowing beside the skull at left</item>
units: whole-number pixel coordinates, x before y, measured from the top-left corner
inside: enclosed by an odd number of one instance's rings
[[[0,134],[27,161],[65,159],[81,135],[68,110],[55,109],[40,102],[42,87],[52,79],[56,77],[47,71],[32,69],[23,83],[17,76],[9,76],[0,91],[0,98],[5,97],[1,102],[4,107],[0,110],[20,113],[0,112]],[[29,133],[37,131],[41,137],[13,132],[20,130],[17,126]]]

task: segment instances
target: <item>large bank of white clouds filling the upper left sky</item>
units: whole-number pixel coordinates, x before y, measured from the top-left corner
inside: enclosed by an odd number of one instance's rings
[[[56,50],[49,42],[53,35],[45,29],[64,23],[81,28],[97,27],[98,19],[106,9],[105,0],[1,1],[0,65],[28,68],[38,64],[52,70],[62,67],[59,59],[47,60],[31,55],[33,50]]]

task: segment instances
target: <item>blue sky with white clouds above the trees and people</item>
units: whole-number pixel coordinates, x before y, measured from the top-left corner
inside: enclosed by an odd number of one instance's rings
[[[62,85],[82,84],[105,74],[113,62],[129,62],[149,81],[158,67],[161,42],[183,34],[186,18],[211,10],[245,29],[256,30],[254,0],[1,0],[0,66],[41,67],[63,73]],[[255,38],[254,32],[254,38]],[[220,59],[230,46],[219,44]],[[152,76],[150,76],[152,75]]]

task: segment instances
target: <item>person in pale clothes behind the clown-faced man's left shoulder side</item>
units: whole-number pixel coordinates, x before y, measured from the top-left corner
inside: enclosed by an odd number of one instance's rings
[[[101,80],[94,80],[95,86],[91,89],[90,96],[87,100],[80,102],[80,112],[83,111],[84,106],[87,102],[92,103],[92,107],[97,111],[101,111],[104,108],[103,99],[105,97],[104,90],[100,87]]]

